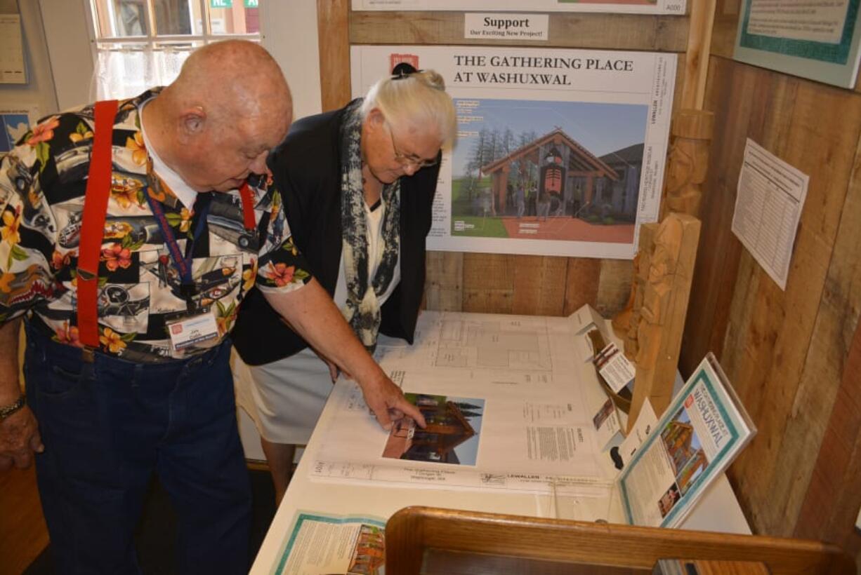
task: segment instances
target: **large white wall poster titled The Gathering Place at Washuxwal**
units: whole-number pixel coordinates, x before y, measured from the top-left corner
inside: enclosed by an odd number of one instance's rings
[[[429,249],[628,259],[658,217],[675,54],[352,46],[354,96],[395,64],[455,101]]]

